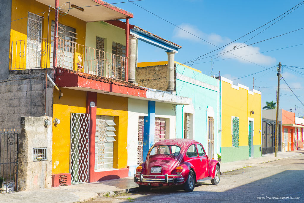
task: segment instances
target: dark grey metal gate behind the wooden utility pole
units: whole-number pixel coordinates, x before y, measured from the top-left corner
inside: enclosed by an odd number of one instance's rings
[[[278,152],[281,151],[281,125],[279,125]],[[275,121],[262,121],[262,154],[275,152]]]

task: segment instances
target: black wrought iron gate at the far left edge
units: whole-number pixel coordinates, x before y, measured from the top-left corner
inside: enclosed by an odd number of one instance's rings
[[[18,189],[18,130],[0,129],[0,194]]]

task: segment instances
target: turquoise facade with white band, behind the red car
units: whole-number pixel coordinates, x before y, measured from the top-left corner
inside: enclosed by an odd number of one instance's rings
[[[219,81],[213,77],[202,74],[195,69],[176,65],[176,94],[192,98],[193,106],[176,107],[176,137],[185,136],[185,113],[193,115],[193,139],[203,144],[207,149],[208,116],[214,119],[214,154],[219,153]],[[207,112],[208,110],[208,112]],[[190,121],[191,124],[191,121]],[[191,134],[191,132],[190,132]],[[192,137],[190,137],[192,138]]]

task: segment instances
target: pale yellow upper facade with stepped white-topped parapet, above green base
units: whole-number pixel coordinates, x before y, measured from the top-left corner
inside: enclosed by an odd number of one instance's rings
[[[231,117],[239,117],[239,146],[248,146],[248,117],[254,119],[253,145],[261,144],[261,95],[222,81],[222,147],[232,147]],[[250,111],[254,114],[250,115]]]

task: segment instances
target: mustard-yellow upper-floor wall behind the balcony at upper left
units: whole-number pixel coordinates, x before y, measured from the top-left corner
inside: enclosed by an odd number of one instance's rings
[[[42,19],[42,38],[47,38],[47,15],[48,15],[48,9],[49,7],[47,5],[44,5],[40,2],[37,2],[35,0],[14,0],[12,1],[12,21],[11,23],[11,36],[10,36],[10,46],[12,45],[12,41],[15,40],[26,40],[27,38],[27,18],[24,18],[28,15],[27,12],[31,13],[40,13],[39,15],[42,16],[44,13],[44,17]],[[52,8],[51,8],[52,9]],[[54,9],[53,9],[54,10]],[[50,12],[50,22],[49,22],[49,38],[51,37],[51,22],[55,19],[55,12]],[[76,29],[76,33],[78,35],[76,36],[78,39],[75,41],[78,44],[85,45],[85,28],[86,28],[86,22],[78,19],[71,15],[59,15],[59,23],[63,24],[65,26],[70,26]],[[16,44],[16,42],[14,42]],[[50,47],[50,46],[49,46]],[[42,49],[47,49],[47,41],[42,42]],[[24,57],[20,59],[19,52],[20,50],[25,51]],[[50,50],[50,48],[48,49]],[[11,52],[12,51],[12,52]],[[26,64],[26,41],[17,42],[17,46],[14,46],[13,50],[12,47],[10,47],[10,53],[13,53],[13,67],[16,68],[25,68]],[[48,54],[45,54],[45,57],[42,57],[41,60],[41,67],[49,66],[49,60],[46,60],[46,55],[50,56],[50,51],[48,51]],[[48,57],[49,58],[49,57]],[[11,55],[10,55],[11,59]],[[20,60],[19,60],[20,59]],[[11,61],[11,60],[10,60]],[[46,64],[46,61],[48,63]],[[20,65],[19,65],[20,64]],[[75,63],[76,64],[76,63]]]

